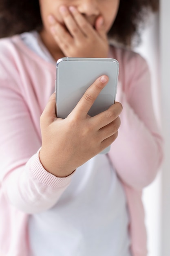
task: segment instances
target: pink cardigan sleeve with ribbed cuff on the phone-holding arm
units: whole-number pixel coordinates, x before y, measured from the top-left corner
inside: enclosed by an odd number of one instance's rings
[[[59,178],[43,168],[41,138],[29,108],[14,81],[2,73],[0,77],[0,190],[20,211],[44,211],[57,202],[71,175]]]

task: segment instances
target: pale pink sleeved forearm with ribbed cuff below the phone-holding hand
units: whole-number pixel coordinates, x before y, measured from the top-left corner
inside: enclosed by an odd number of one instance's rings
[[[48,173],[40,163],[38,153],[25,166],[11,171],[3,182],[7,200],[26,213],[51,208],[71,182],[71,176],[58,178]]]

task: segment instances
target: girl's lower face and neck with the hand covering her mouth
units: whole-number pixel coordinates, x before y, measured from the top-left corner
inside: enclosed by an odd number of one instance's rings
[[[55,60],[107,58],[107,32],[118,8],[119,0],[40,0],[40,36]]]

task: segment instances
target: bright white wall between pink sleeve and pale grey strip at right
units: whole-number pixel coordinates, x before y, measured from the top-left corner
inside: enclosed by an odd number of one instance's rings
[[[160,113],[160,60],[159,60],[159,15],[152,15],[142,34],[142,43],[135,49],[146,58],[151,72],[152,95],[157,121]],[[165,256],[161,252],[161,172],[150,186],[144,189],[144,208],[148,234],[148,256]],[[169,254],[170,256],[170,254]]]

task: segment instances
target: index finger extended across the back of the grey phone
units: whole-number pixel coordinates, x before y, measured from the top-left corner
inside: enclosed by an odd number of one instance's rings
[[[108,76],[100,76],[95,80],[95,82],[86,90],[83,97],[77,103],[74,111],[81,113],[82,115],[87,115],[91,106],[97,99],[97,96],[102,91],[104,86],[108,82]]]

